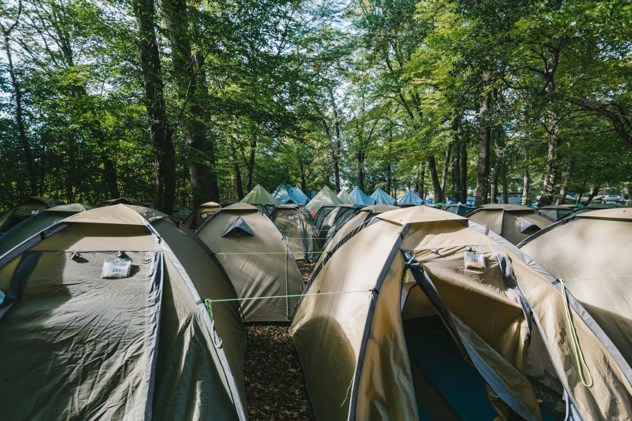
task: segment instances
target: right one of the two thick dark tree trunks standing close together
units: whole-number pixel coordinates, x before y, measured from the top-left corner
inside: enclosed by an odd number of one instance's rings
[[[198,65],[204,64],[204,61],[198,62],[196,54],[191,51],[186,0],[162,0],[162,8],[167,18],[167,30],[171,40],[173,76],[183,102],[191,195],[193,206],[198,206],[207,202],[209,198],[219,200],[218,192],[212,191],[210,183],[209,142],[204,123],[207,118],[201,106],[203,89],[198,85],[198,75],[204,74],[204,69],[198,69]]]

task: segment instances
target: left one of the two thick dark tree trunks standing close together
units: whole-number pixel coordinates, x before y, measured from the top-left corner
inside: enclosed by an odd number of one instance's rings
[[[176,195],[176,161],[172,132],[162,93],[162,71],[156,42],[153,0],[131,2],[137,20],[140,50],[140,70],[145,90],[145,107],[149,118],[156,169],[155,209],[173,214]]]

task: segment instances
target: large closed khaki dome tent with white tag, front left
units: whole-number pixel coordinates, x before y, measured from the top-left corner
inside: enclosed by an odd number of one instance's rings
[[[7,419],[246,419],[240,308],[203,301],[234,290],[161,212],[70,216],[0,259],[0,290]]]

